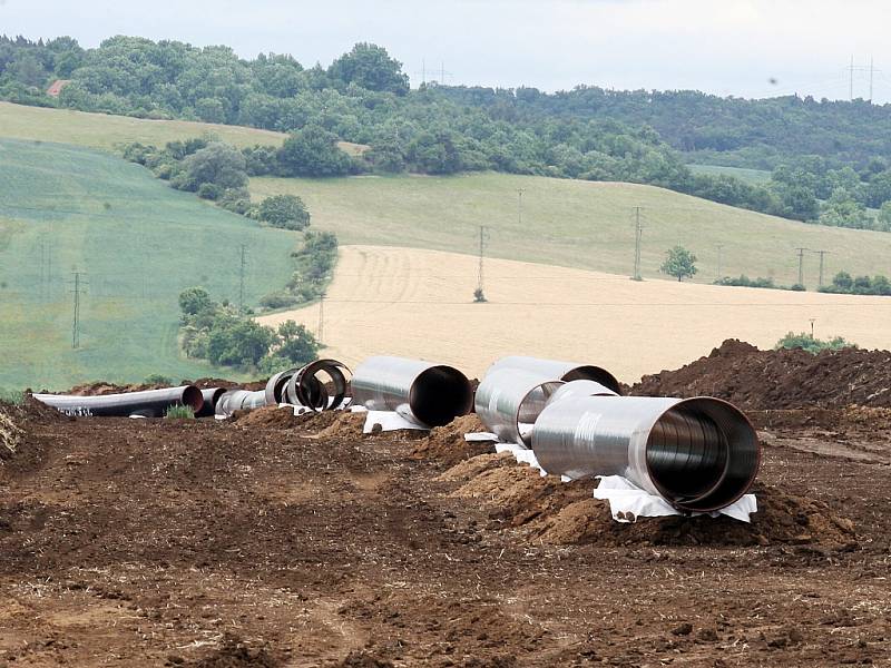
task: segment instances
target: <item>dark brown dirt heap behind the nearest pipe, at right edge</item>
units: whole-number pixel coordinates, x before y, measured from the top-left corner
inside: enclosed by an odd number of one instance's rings
[[[642,396],[716,396],[744,410],[891,406],[889,351],[760,351],[725,341],[707,357],[644,376]]]

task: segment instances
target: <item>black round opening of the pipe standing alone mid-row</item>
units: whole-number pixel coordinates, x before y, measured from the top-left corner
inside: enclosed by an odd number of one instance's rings
[[[409,406],[412,414],[429,426],[443,426],[473,405],[470,381],[451,366],[431,366],[412,383]]]

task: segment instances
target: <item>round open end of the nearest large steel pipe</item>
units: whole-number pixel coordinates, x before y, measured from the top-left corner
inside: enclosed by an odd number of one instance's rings
[[[649,477],[672,505],[708,512],[752,487],[761,463],[748,419],[719,399],[678,402],[659,415],[646,445]]]

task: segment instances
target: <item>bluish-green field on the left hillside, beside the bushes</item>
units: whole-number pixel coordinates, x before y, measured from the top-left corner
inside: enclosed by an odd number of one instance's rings
[[[246,244],[245,302],[255,303],[287,281],[296,238],[120,158],[0,139],[0,387],[218,374],[178,354],[177,295],[204,285],[237,301]],[[74,272],[86,272],[88,284],[79,350]]]

